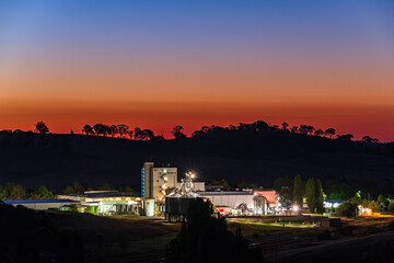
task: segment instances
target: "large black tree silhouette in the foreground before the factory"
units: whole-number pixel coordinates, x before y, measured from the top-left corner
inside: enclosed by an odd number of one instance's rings
[[[189,203],[181,232],[170,243],[172,262],[263,262],[259,248],[250,249],[250,241],[228,230],[225,218],[213,214],[210,202]]]

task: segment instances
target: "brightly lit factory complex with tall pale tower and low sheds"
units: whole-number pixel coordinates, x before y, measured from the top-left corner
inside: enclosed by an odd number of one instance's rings
[[[279,196],[274,190],[223,190],[205,182],[194,182],[187,173],[178,180],[177,168],[154,167],[144,162],[141,169],[141,193],[89,191],[83,194],[57,195],[56,199],[4,201],[32,209],[78,210],[94,215],[165,216],[179,219],[187,211],[189,199],[201,198],[213,204],[220,215],[273,215],[278,211]]]

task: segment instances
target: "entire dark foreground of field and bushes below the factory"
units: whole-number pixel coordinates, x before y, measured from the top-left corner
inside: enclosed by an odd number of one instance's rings
[[[144,217],[0,206],[0,262],[198,262],[201,255],[207,255],[205,262],[240,255],[241,262],[263,262],[259,252],[264,262],[394,259],[393,217],[343,219],[341,227],[325,229],[297,222],[282,227],[269,217],[224,221],[204,215],[193,213],[181,226]]]

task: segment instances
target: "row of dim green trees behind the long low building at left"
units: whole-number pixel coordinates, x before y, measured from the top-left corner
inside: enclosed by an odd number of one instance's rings
[[[72,184],[66,186],[61,194],[83,194],[85,191],[92,191],[93,188],[88,185],[82,185],[79,182],[73,182]],[[120,186],[115,187],[111,184],[103,184],[99,187],[101,191],[119,191],[125,193],[134,193],[135,191],[130,186]],[[55,193],[49,191],[45,185],[40,185],[36,190],[27,188],[25,190],[23,185],[15,184],[12,182],[0,185],[0,199],[53,199],[55,198]]]

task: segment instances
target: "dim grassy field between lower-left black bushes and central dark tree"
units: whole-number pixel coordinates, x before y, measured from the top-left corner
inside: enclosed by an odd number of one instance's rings
[[[69,211],[48,211],[47,216],[58,227],[82,235],[86,262],[138,262],[164,256],[166,244],[181,229],[178,224],[147,217]]]

